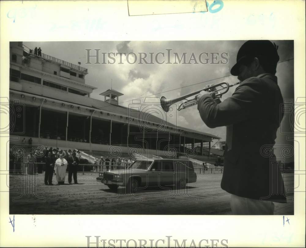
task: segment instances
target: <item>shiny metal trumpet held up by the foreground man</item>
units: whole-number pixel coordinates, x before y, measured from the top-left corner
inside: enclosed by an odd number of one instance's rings
[[[187,100],[186,98],[187,97],[190,97],[190,96],[194,96],[194,95],[197,95],[199,94],[202,90],[204,91],[207,91],[207,92],[215,92],[215,96],[214,96],[214,99],[216,98],[221,98],[221,96],[223,94],[225,94],[226,92],[229,91],[230,87],[233,87],[235,85],[238,85],[240,84],[240,82],[237,82],[237,83],[234,83],[232,85],[230,85],[229,83],[227,82],[222,82],[222,83],[219,83],[219,84],[216,84],[216,85],[208,85],[206,86],[205,88],[201,89],[201,90],[198,90],[196,92],[192,92],[192,93],[189,93],[187,95],[184,95],[184,96],[180,96],[180,97],[177,97],[177,98],[174,98],[172,100],[168,100],[166,99],[166,97],[162,96],[161,99],[160,99],[160,105],[162,106],[162,109],[165,111],[165,112],[168,112],[169,111],[169,108],[172,104],[174,103],[177,103],[177,102],[180,102],[181,100],[186,100],[185,102],[181,103],[178,108],[177,108],[177,111],[180,111],[182,109],[185,109],[185,108],[188,108],[188,107],[192,107],[193,105],[196,105],[197,104],[197,100],[196,98],[193,98],[193,99],[190,99],[190,100]],[[217,87],[221,87],[219,89],[217,89]],[[216,88],[214,91],[212,91],[213,88]]]

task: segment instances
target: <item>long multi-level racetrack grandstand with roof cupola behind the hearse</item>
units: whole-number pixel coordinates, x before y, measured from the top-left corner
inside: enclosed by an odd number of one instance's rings
[[[22,42],[10,42],[9,48],[10,103],[24,106],[24,120],[11,116],[10,132],[19,140],[10,145],[32,137],[33,144],[96,155],[129,156],[137,148],[149,157],[186,156],[188,150],[187,156],[214,163],[210,144],[219,137],[120,106],[123,94],[112,88],[100,94],[101,100],[93,99],[97,88],[85,84],[88,71],[80,64],[38,56]]]

